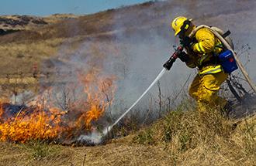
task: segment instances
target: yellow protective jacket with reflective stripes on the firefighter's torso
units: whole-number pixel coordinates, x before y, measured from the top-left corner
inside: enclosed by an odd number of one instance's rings
[[[219,73],[223,71],[216,56],[223,50],[222,43],[207,28],[195,32],[195,43],[191,48],[186,48],[189,61],[186,63],[191,68],[198,67],[199,74]]]

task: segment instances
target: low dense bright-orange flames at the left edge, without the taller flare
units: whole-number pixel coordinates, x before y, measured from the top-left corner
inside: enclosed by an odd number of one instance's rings
[[[40,107],[35,107],[33,113],[26,108],[22,113],[17,113],[16,117],[5,120],[0,125],[1,141],[19,141],[26,142],[36,139],[54,139],[60,132],[60,115],[55,117],[50,115]]]

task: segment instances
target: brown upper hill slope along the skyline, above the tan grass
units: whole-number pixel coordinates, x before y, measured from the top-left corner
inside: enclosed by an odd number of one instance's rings
[[[163,31],[168,31],[169,21],[171,18],[175,17],[175,15],[187,15],[191,16],[196,21],[200,20],[199,22],[208,23],[210,22],[210,19],[220,15],[237,15],[237,18],[238,16],[244,18],[246,15],[240,15],[240,12],[254,11],[255,6],[256,2],[250,0],[246,2],[231,0],[225,2],[220,0],[214,2],[146,2],[141,5],[110,9],[92,15],[80,17],[70,15],[67,17],[68,19],[64,16],[60,17],[53,15],[48,18],[37,18],[37,20],[42,20],[45,24],[47,24],[47,22],[53,23],[53,21],[50,20],[56,18],[57,20],[64,20],[47,25],[41,29],[33,29],[31,31],[17,32],[9,36],[3,36],[0,38],[0,42],[22,42],[24,40],[27,42],[35,42],[35,40],[42,39],[71,38],[74,36],[99,36],[102,33],[113,31],[129,32],[129,29],[133,29],[133,32],[144,32],[145,29],[158,29],[161,31],[162,35],[166,35],[167,32]],[[22,18],[22,16],[16,17]],[[170,20],[166,20],[168,18],[170,18]],[[26,19],[29,19],[29,17]],[[36,19],[33,19],[32,22],[36,22]],[[218,23],[224,24],[225,22]],[[144,28],[144,31],[140,31],[142,28]],[[129,33],[127,35],[129,35]]]

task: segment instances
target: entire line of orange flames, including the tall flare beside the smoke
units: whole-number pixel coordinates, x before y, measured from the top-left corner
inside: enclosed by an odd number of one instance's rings
[[[93,72],[78,78],[83,96],[65,102],[64,109],[55,107],[52,91],[16,111],[12,104],[0,103],[0,141],[67,140],[92,130],[92,122],[99,120],[112,103],[115,78]]]

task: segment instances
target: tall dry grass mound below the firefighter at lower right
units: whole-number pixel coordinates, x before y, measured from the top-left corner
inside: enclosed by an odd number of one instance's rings
[[[182,103],[140,130],[133,142],[161,146],[173,165],[255,165],[256,117],[232,120],[219,110],[199,113]]]

